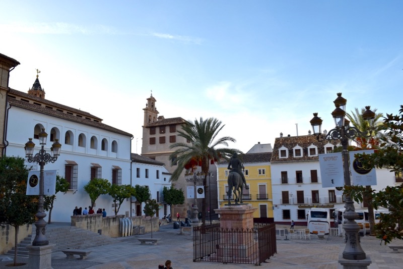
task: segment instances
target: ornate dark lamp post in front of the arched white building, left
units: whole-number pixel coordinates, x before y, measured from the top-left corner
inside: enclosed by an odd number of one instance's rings
[[[36,235],[35,239],[32,242],[33,246],[45,246],[49,244],[45,236],[46,222],[43,218],[46,217],[46,213],[43,210],[43,168],[47,163],[54,163],[57,160],[57,157],[60,155],[60,147],[61,144],[55,139],[55,142],[52,144],[50,148],[50,154],[46,153],[44,146],[46,145],[47,133],[45,129],[39,133],[39,144],[41,145],[41,149],[35,155],[34,147],[35,143],[32,142],[32,138],[29,138],[29,141],[25,143],[25,157],[28,160],[28,163],[37,163],[40,166],[40,177],[39,177],[39,201],[38,201],[38,212],[35,214],[37,221],[35,222],[36,226]]]

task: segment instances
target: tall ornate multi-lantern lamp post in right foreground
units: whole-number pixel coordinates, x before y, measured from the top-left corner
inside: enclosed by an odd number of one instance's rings
[[[328,132],[325,139],[327,140],[341,140],[343,152],[343,172],[344,183],[346,186],[351,186],[350,178],[350,156],[348,151],[349,139],[356,137],[369,137],[371,132],[361,132],[355,127],[349,126],[349,121],[345,119],[346,116],[346,103],[347,99],[342,97],[342,93],[337,94],[338,97],[333,101],[336,106],[335,110],[331,113],[334,118],[336,127]],[[375,113],[370,110],[370,106],[365,106],[366,111],[362,115],[365,120],[373,121]],[[313,114],[313,118],[310,121],[313,129],[313,134],[320,137],[322,119],[318,117],[317,113]],[[355,222],[358,218],[358,214],[354,208],[354,202],[350,197],[350,194],[346,195],[346,204],[344,206],[346,211],[344,217],[347,219],[347,223],[343,224],[343,228],[346,231],[346,247],[343,251],[343,258],[348,260],[363,260],[366,258],[366,254],[360,245],[359,231],[360,226]]]

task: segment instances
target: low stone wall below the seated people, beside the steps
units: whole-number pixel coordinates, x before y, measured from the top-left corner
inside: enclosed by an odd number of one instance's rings
[[[81,216],[72,216],[72,226],[89,230],[94,233],[101,232],[102,235],[110,237],[119,237],[119,220],[124,218],[124,215],[108,216],[103,218],[102,214],[90,214]],[[132,217],[133,226],[144,226],[146,233],[151,232],[151,218],[150,217]],[[159,231],[159,219],[153,217],[152,219],[153,232]]]

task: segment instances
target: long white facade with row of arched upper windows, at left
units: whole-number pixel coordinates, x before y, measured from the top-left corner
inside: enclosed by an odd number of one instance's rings
[[[45,170],[57,170],[58,175],[65,177],[66,165],[77,164],[77,187],[71,188],[68,192],[57,193],[52,210],[52,222],[70,222],[75,206],[88,208],[91,205],[90,196],[83,189],[84,185],[90,181],[91,168],[94,164],[99,165],[97,177],[110,180],[112,183],[112,170],[121,168],[121,184],[130,184],[130,140],[131,137],[119,133],[96,128],[90,125],[76,123],[73,121],[57,118],[42,113],[33,112],[12,105],[8,111],[7,137],[8,146],[6,154],[9,156],[25,157],[24,146],[28,138],[34,137],[36,129],[44,128],[48,133],[45,149],[50,152],[53,141],[50,141],[50,133],[55,132],[61,143],[60,156],[55,163],[45,165]],[[71,144],[66,144],[65,133],[71,134]],[[81,135],[81,145],[79,146],[79,136]],[[84,136],[83,136],[84,135]],[[97,143],[91,148],[91,137],[95,137]],[[83,143],[84,139],[84,143]],[[105,150],[102,150],[102,140]],[[39,139],[33,139],[35,143],[34,154],[40,149]],[[112,143],[114,146],[112,147]],[[112,148],[115,152],[112,152]],[[68,162],[69,161],[69,162]],[[26,162],[27,167],[39,170],[39,165]],[[105,208],[108,216],[113,214],[113,202],[109,195],[101,195],[94,206]],[[125,202],[120,207],[118,214],[129,214],[130,203]],[[47,217],[46,217],[47,219]]]

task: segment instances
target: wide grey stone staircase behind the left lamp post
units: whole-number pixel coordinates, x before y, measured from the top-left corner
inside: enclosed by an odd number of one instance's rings
[[[32,245],[32,241],[35,238],[35,226],[32,227],[32,235],[24,238],[19,244],[17,244],[17,255],[21,257],[28,257],[29,245]],[[52,252],[57,252],[66,248],[89,248],[93,246],[115,244],[120,242],[119,238],[111,238],[108,236],[100,235],[88,230],[83,230],[75,226],[58,226],[49,228],[46,226],[46,238],[49,243],[55,244],[52,248]],[[14,255],[15,248],[9,250],[7,255]]]

